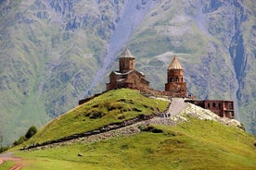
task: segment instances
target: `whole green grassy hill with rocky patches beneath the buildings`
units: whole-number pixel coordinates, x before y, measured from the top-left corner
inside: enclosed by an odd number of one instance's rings
[[[28,169],[255,167],[255,137],[239,122],[192,103],[178,115],[158,117],[168,104],[129,89],[108,91],[46,124],[19,146],[38,148],[15,155]]]

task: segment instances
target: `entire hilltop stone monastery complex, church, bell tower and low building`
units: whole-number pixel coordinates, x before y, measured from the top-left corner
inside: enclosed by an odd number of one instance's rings
[[[167,69],[167,83],[164,91],[156,91],[149,88],[145,74],[135,69],[135,58],[128,48],[122,51],[119,56],[119,70],[114,70],[109,74],[109,83],[106,84],[107,91],[129,88],[147,93],[150,95],[167,96],[168,98],[184,98],[187,103],[194,103],[202,108],[209,109],[221,117],[234,118],[234,102],[222,100],[195,100],[195,97],[187,96],[186,82],[184,81],[184,69],[176,56]],[[95,97],[99,95],[96,94]],[[85,103],[91,98],[79,101]]]

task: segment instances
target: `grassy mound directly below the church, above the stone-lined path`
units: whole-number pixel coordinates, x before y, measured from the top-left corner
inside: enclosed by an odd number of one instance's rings
[[[110,123],[122,122],[137,115],[156,114],[163,112],[167,105],[168,102],[149,99],[138,91],[129,89],[108,91],[48,123],[28,143],[58,140],[75,133],[101,128]]]

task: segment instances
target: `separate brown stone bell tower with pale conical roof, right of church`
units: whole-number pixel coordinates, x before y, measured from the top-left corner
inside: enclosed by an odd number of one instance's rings
[[[167,83],[165,91],[173,97],[186,97],[186,82],[183,79],[183,67],[174,56],[173,61],[167,69]]]

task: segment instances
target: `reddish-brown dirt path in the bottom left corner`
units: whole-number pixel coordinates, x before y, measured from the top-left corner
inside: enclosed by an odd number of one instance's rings
[[[21,169],[24,164],[22,163],[22,159],[18,157],[13,157],[14,152],[6,152],[0,154],[0,167],[1,164],[4,164],[6,161],[13,161],[15,164],[9,170],[19,170]]]

